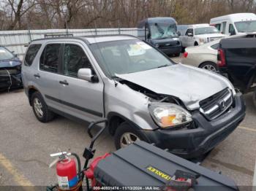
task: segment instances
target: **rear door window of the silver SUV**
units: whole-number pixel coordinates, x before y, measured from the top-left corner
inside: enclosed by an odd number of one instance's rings
[[[61,44],[48,44],[40,57],[40,69],[57,73],[59,71]]]

